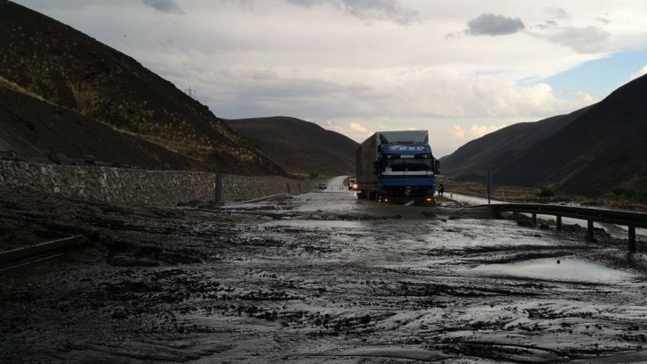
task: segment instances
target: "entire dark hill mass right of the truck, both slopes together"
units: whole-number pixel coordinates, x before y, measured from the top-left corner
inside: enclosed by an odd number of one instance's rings
[[[616,186],[647,186],[647,77],[619,87],[602,102],[534,123],[495,131],[443,158],[455,178],[495,184],[548,186],[567,194],[597,195]]]

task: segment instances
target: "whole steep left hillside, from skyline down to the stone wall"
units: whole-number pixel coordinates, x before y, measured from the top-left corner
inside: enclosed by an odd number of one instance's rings
[[[160,168],[285,174],[206,106],[126,54],[59,21],[0,2],[0,49],[0,87],[11,90],[0,94],[2,123],[4,130],[13,129],[11,140],[5,132],[0,139],[18,153],[98,153],[102,145],[111,150],[112,161],[141,160],[146,167],[156,161]],[[11,100],[17,98],[29,103],[41,120],[16,109]],[[33,128],[43,127],[41,122],[51,123],[61,135],[70,122],[83,127],[56,144],[38,139],[45,134]],[[63,146],[63,141],[71,145]],[[122,148],[128,144],[133,147]]]

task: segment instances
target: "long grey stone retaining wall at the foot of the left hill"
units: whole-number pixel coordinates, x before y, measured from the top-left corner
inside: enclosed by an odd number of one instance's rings
[[[281,177],[0,161],[0,186],[113,203],[175,206],[190,201],[216,201],[218,178],[222,186],[221,203],[271,194],[299,194],[314,188],[311,181]]]

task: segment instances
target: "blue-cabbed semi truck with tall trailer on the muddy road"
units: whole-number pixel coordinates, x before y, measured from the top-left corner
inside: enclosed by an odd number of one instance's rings
[[[440,162],[426,130],[378,131],[357,147],[357,198],[435,204]]]

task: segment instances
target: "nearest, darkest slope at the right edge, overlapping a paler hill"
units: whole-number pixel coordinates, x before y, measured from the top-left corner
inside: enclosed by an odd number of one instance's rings
[[[528,150],[536,170],[519,173],[520,161],[497,172],[512,184],[533,180],[569,194],[603,194],[615,186],[647,186],[647,78],[618,88],[560,133]],[[542,156],[545,158],[536,158]]]

